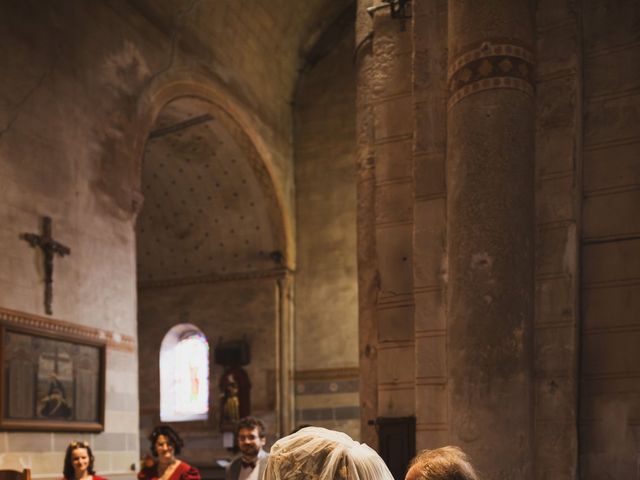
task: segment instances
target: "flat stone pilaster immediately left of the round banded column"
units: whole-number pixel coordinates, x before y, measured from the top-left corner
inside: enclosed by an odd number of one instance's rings
[[[449,443],[446,267],[447,0],[414,0],[413,296],[416,447]]]

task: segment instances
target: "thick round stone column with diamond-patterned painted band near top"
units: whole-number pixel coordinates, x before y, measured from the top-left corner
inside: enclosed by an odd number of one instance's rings
[[[449,2],[451,443],[485,479],[532,478],[533,2]]]

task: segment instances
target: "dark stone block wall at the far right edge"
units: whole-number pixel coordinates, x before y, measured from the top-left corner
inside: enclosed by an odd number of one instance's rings
[[[579,451],[584,478],[638,474],[639,10],[636,2],[604,1],[587,2],[582,9]]]

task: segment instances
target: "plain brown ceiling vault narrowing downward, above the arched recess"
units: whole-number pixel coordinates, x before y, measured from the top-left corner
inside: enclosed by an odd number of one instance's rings
[[[354,0],[129,0],[266,121],[281,120],[308,52]],[[270,106],[265,106],[270,103]],[[286,122],[285,122],[286,123]],[[288,128],[288,125],[286,125]]]

